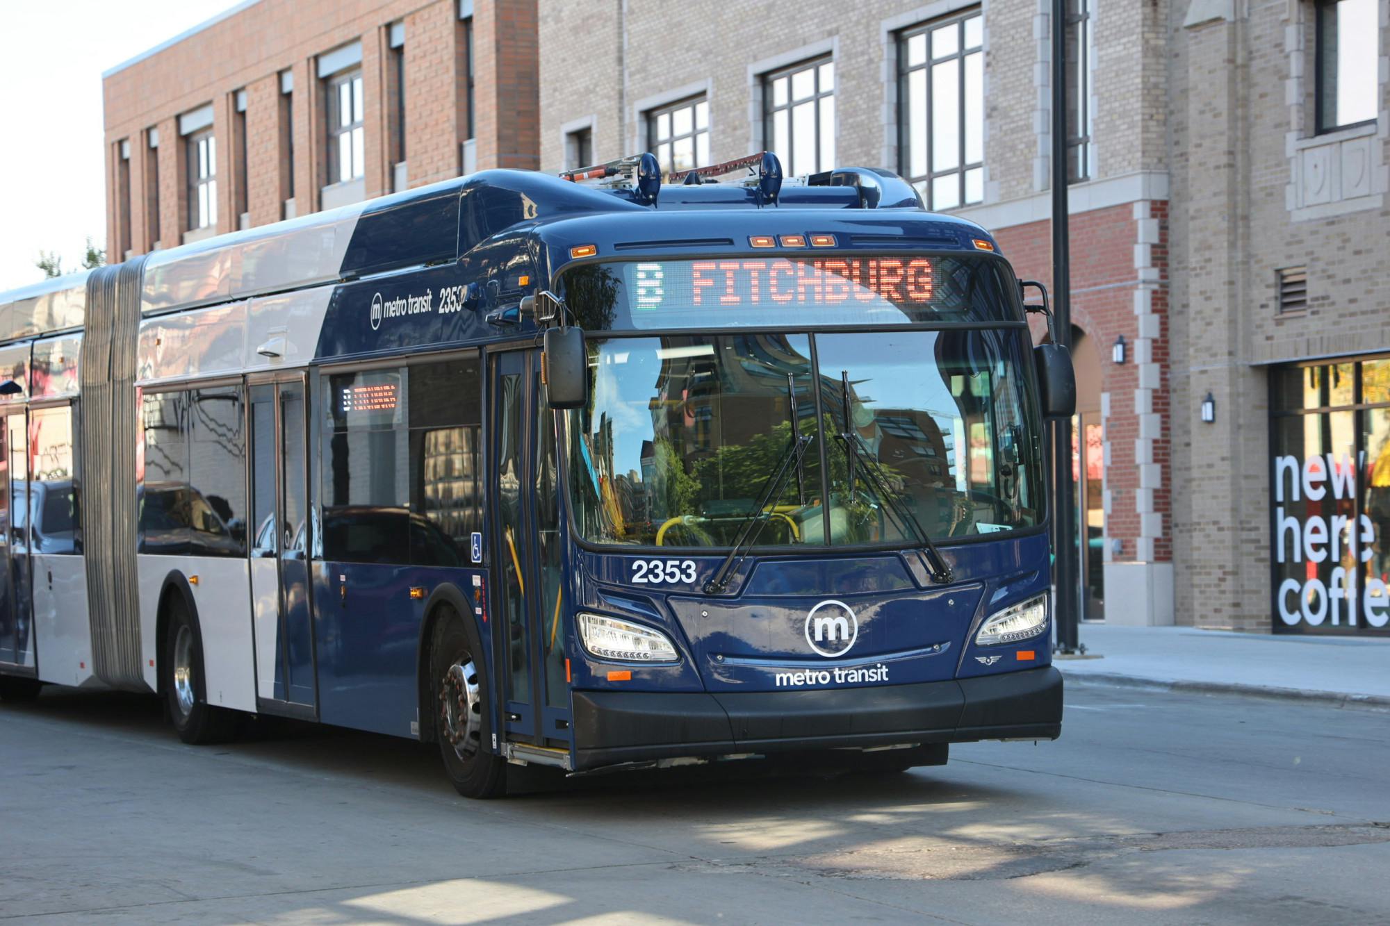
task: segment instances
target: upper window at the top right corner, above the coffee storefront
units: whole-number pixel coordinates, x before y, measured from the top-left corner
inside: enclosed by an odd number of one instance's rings
[[[1318,131],[1332,132],[1376,118],[1375,0],[1318,3]]]

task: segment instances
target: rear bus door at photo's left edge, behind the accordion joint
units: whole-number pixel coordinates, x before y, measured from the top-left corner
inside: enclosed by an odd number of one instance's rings
[[[35,674],[33,609],[29,603],[29,430],[24,410],[0,425],[0,665]]]

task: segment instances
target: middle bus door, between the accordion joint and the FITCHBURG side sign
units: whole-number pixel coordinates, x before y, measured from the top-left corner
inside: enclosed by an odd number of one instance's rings
[[[317,705],[309,606],[313,526],[303,378],[250,387],[250,438],[257,705],[271,713],[313,717]]]

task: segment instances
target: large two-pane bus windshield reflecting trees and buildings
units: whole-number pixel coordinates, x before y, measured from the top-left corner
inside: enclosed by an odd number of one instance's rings
[[[760,513],[756,546],[910,545],[894,507],[938,541],[1034,527],[1042,477],[1013,338],[591,338],[589,403],[569,413],[580,537],[728,548]],[[802,466],[759,507],[794,432],[810,438]]]

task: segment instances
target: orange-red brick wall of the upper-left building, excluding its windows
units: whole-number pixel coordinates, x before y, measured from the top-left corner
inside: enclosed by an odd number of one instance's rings
[[[366,128],[366,195],[391,190],[393,86],[386,75],[388,26],[406,24],[406,147],[411,186],[457,177],[466,135],[463,28],[457,0],[263,0],[103,81],[106,146],[129,138],[132,159],[143,133],[160,128],[160,239],[182,241],[188,227],[183,145],[177,117],[214,108],[220,232],[238,224],[239,152],[232,136],[235,93],[247,92],[246,207],[252,224],[281,218],[289,197],[281,139],[278,74],[293,72],[295,189],[297,214],[320,207],[325,182],[327,113],[316,58],[361,40]],[[478,168],[534,167],[538,152],[537,8],[534,0],[478,0],[474,19]],[[484,24],[486,35],[484,36]],[[131,235],[135,250],[153,241],[145,196],[136,196],[132,160]],[[114,164],[107,165],[108,241],[117,241]],[[139,229],[139,231],[138,231]]]

